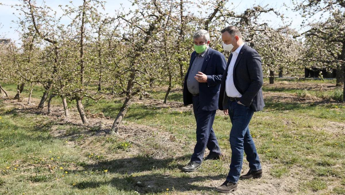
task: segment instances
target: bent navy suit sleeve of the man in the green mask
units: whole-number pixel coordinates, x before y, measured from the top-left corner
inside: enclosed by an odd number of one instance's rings
[[[216,73],[214,75],[207,75],[207,86],[220,84],[221,78],[226,68],[226,60],[223,54],[218,53],[216,60]]]

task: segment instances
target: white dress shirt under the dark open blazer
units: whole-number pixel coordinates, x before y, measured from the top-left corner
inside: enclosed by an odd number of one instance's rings
[[[236,59],[243,45],[244,43],[242,43],[234,52],[231,52],[233,54],[233,57],[230,60],[228,75],[226,76],[226,80],[225,80],[225,92],[228,97],[233,97],[233,98],[242,97],[242,95],[237,91],[235,87],[233,73],[234,73],[234,66],[235,66]]]

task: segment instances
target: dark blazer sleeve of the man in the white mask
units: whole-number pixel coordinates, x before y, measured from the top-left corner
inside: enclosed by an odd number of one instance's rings
[[[249,107],[264,82],[260,55],[256,51],[250,53],[246,65],[249,73],[250,85],[239,101]]]

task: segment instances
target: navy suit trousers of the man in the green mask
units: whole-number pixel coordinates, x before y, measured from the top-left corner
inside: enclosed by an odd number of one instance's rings
[[[192,100],[196,120],[196,144],[191,161],[201,164],[206,147],[211,155],[220,155],[218,141],[212,128],[216,111],[202,111],[199,106],[199,96],[193,96]]]

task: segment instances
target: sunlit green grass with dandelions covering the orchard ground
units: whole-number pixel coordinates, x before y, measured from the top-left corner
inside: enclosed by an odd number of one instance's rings
[[[3,86],[10,95],[16,93],[16,85]],[[40,98],[39,89],[35,87],[33,98]],[[264,91],[298,92],[270,88]],[[313,91],[307,93],[315,95]],[[162,100],[165,91],[157,90],[151,95]],[[180,90],[170,95],[168,101],[182,101]],[[61,105],[60,99],[53,100],[54,105]],[[213,127],[224,158],[204,162],[197,172],[184,173],[180,168],[189,161],[196,137],[191,110],[132,103],[124,125],[143,126],[131,135],[126,134],[142,145],[139,146],[117,136],[99,136],[100,127],[59,125],[44,115],[0,104],[2,194],[217,194],[206,186],[211,179],[224,180],[228,173],[231,123],[221,113],[216,115]],[[265,104],[264,111],[256,112],[249,125],[264,167],[264,180],[240,181],[241,185],[284,182],[289,177],[298,185],[287,189],[287,194],[327,194],[331,189],[331,194],[344,194],[345,135],[341,128],[345,105],[281,102],[271,98],[265,99]],[[83,105],[93,114],[102,112],[114,119],[122,102],[85,98]],[[51,131],[63,133],[54,137]],[[245,172],[247,166],[244,160]]]

